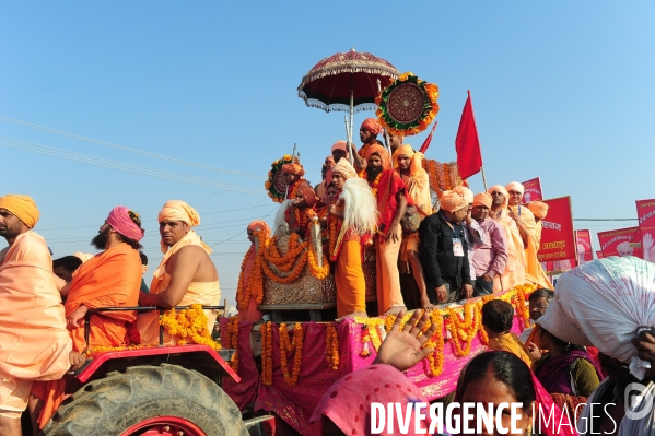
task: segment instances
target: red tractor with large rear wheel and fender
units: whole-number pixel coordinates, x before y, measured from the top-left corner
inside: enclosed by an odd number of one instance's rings
[[[224,306],[203,306],[203,309],[224,309]],[[162,314],[163,309],[91,309],[85,319],[87,344],[90,318],[118,310]],[[214,351],[198,344],[164,346],[163,338],[160,327],[160,346],[97,353],[82,368],[67,374],[66,391],[72,396],[57,409],[40,435],[274,435],[273,416],[244,421],[236,404],[221,389],[223,377],[239,381],[227,364],[234,350]],[[28,420],[23,422],[28,424]],[[31,434],[30,428],[24,434]]]

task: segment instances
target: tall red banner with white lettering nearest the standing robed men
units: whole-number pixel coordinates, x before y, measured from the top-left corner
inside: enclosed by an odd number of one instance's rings
[[[575,236],[571,197],[543,200],[548,215],[541,221],[541,247],[537,257],[540,262],[575,259]]]

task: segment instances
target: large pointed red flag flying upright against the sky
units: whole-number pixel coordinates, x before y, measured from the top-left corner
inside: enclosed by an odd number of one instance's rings
[[[457,151],[459,176],[463,179],[480,172],[482,168],[482,154],[480,153],[480,141],[478,140],[470,91],[468,91],[468,97],[461,111],[461,120],[459,120],[459,129],[457,130],[457,138],[455,138],[455,150]]]

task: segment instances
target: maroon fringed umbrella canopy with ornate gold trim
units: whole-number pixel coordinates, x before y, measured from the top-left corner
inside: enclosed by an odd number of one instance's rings
[[[297,95],[309,107],[318,107],[326,113],[349,111],[350,94],[353,94],[353,109],[374,110],[376,108],[377,80],[384,90],[400,72],[386,60],[358,52],[338,52],[319,61],[303,78]]]

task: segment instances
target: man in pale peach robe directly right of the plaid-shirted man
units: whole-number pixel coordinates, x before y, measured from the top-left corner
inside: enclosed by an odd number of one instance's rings
[[[501,278],[502,290],[507,291],[516,285],[525,284],[525,249],[516,222],[510,216],[507,209],[510,193],[505,187],[494,185],[487,192],[492,198],[490,216],[502,224],[507,237],[507,264]]]

